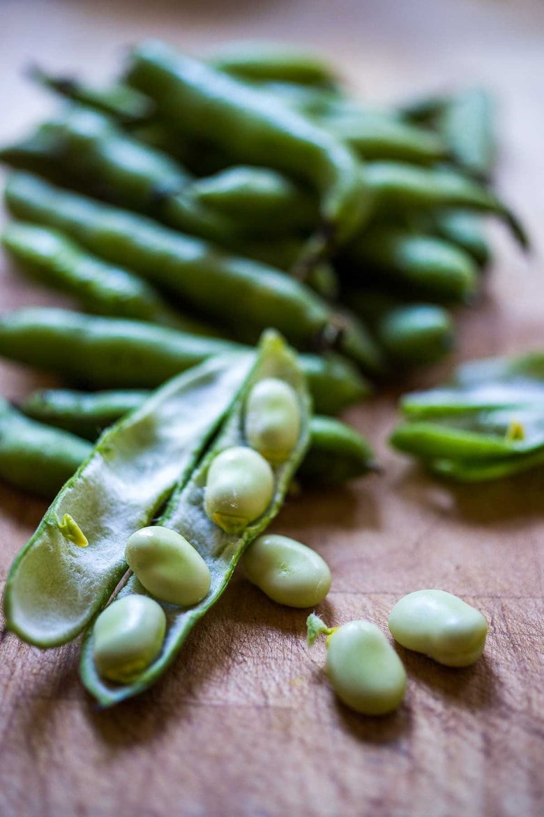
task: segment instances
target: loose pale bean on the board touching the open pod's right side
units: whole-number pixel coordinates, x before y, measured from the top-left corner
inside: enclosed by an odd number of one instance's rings
[[[243,558],[245,575],[263,593],[288,607],[314,607],[330,590],[329,565],[311,547],[280,534],[263,534]]]

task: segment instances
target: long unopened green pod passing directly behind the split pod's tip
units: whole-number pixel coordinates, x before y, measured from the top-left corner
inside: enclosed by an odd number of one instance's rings
[[[139,321],[27,308],[0,316],[0,355],[96,389],[153,388],[214,355],[252,350]],[[300,355],[316,409],[338,413],[369,386],[338,355]]]

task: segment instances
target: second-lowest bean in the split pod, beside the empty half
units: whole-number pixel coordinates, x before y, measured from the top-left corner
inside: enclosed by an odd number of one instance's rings
[[[126,541],[126,564],[139,583],[170,605],[196,605],[210,592],[210,569],[184,536],[162,525],[140,528]]]

